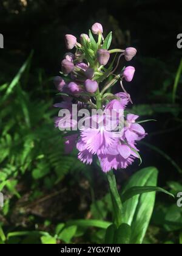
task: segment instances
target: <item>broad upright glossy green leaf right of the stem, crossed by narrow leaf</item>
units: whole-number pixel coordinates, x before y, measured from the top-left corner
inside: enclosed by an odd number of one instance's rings
[[[126,193],[132,187],[154,187],[157,185],[158,170],[148,167],[136,172],[123,190]],[[123,204],[123,222],[132,229],[131,243],[141,244],[155,204],[155,193],[136,195]]]

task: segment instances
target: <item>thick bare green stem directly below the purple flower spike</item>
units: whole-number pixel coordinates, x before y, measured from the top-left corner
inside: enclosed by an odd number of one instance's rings
[[[108,172],[107,179],[109,182],[110,196],[113,204],[113,222],[116,227],[120,227],[123,222],[123,205],[121,203],[120,194],[118,193],[116,179],[113,171]]]

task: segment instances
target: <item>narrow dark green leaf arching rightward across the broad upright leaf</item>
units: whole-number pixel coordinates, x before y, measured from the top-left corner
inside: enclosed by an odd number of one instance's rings
[[[132,187],[129,188],[124,194],[121,195],[121,201],[124,203],[128,199],[130,199],[133,196],[136,196],[136,194],[143,194],[143,193],[149,193],[149,192],[163,192],[165,194],[168,194],[169,196],[172,196],[175,198],[174,194],[169,193],[168,191],[164,190],[163,188],[160,187]]]

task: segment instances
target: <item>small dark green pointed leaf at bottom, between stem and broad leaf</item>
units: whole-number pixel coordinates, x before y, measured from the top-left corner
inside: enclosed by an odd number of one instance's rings
[[[131,227],[125,223],[121,224],[115,232],[115,244],[130,244]]]

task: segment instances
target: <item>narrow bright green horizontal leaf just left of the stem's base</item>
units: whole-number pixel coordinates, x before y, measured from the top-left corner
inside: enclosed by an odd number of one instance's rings
[[[67,225],[76,225],[81,227],[99,227],[101,229],[107,229],[110,226],[108,221],[100,221],[98,219],[77,219],[75,221],[68,221]]]

